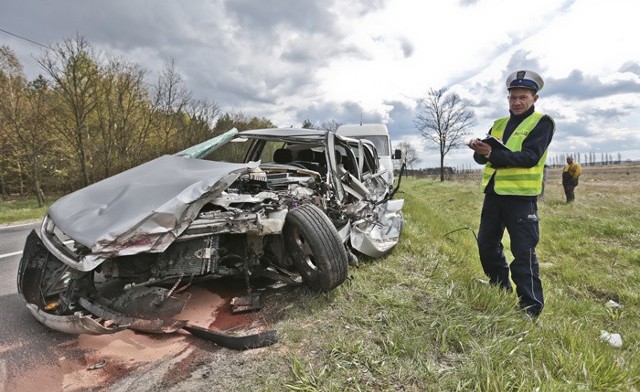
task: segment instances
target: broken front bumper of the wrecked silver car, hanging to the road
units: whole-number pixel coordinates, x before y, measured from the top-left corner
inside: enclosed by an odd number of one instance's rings
[[[78,272],[69,275],[69,267],[48,252],[43,241],[32,231],[27,237],[20,260],[18,292],[33,317],[56,331],[77,335],[104,335],[124,329],[164,334],[185,330],[222,347],[238,350],[264,347],[278,341],[277,331],[274,330],[236,336],[191,325],[187,320],[174,320],[172,317],[183,310],[189,295],[174,296],[171,294],[172,290],[158,287],[133,288],[123,293],[121,298],[110,300],[102,297],[94,300],[79,297],[74,301],[73,307],[67,305],[64,310],[60,305],[60,298],[73,290],[69,289],[70,286],[62,289],[55,287],[51,283],[57,280],[47,278],[47,273],[58,278],[64,276],[64,280],[82,278],[82,274]],[[135,293],[135,290],[138,292]],[[70,310],[72,308],[75,311]]]

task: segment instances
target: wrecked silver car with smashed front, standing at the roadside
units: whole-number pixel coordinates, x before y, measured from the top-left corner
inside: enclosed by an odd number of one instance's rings
[[[334,289],[358,255],[398,242],[404,201],[384,170],[367,140],[234,129],[58,200],[27,238],[18,290],[67,333],[184,329],[234,348],[270,344],[274,331],[237,338],[174,320],[189,299],[181,286],[239,276],[248,292],[264,277]]]

